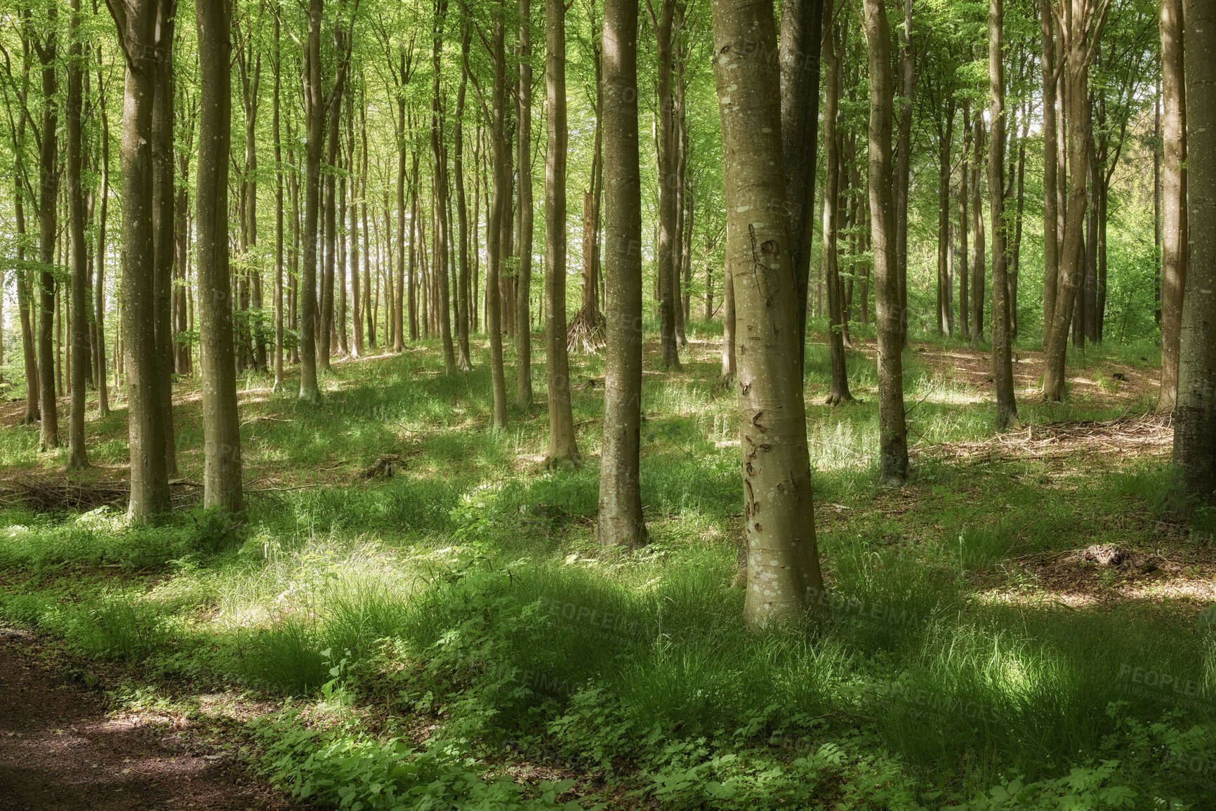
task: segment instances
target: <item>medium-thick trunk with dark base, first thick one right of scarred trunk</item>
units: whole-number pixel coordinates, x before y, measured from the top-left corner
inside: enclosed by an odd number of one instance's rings
[[[878,305],[878,474],[886,484],[903,484],[908,477],[908,444],[890,182],[895,83],[886,7],[882,0],[865,0],[865,11],[866,41],[869,45],[869,232]]]

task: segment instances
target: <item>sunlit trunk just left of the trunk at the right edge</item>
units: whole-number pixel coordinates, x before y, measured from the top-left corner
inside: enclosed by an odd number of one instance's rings
[[[1187,10],[1198,4],[1189,4]],[[1173,411],[1178,389],[1178,332],[1187,287],[1187,89],[1183,77],[1183,0],[1161,0],[1161,86],[1165,102],[1161,164],[1161,394],[1156,412]]]

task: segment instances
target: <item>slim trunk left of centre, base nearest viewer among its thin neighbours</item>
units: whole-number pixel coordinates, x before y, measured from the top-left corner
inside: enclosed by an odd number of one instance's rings
[[[511,179],[507,174],[511,164],[507,157],[506,118],[507,118],[507,55],[503,43],[505,0],[499,0],[494,9],[494,90],[492,139],[494,139],[494,202],[490,205],[490,219],[485,229],[485,331],[490,339],[490,378],[494,392],[494,429],[507,427],[507,379],[502,368],[502,306],[499,288],[502,275],[502,221],[507,218],[511,195]]]

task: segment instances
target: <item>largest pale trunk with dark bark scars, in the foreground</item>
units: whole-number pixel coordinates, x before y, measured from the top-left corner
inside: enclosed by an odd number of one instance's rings
[[[777,44],[769,0],[714,5],[727,255],[739,336],[739,440],[748,553],[744,616],[798,619],[823,596],[798,340],[798,289],[782,159]],[[788,293],[787,293],[788,292]]]

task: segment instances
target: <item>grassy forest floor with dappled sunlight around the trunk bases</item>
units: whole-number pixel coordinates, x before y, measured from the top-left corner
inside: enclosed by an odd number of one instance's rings
[[[1175,518],[1154,348],[1070,350],[1054,405],[1019,348],[995,434],[987,348],[913,339],[889,489],[873,338],[831,407],[816,334],[826,619],[756,635],[719,340],[646,347],[634,551],[593,537],[593,355],[579,469],[544,463],[542,356],[499,433],[484,347],[337,361],[317,407],[246,374],[240,522],[197,508],[192,378],[156,526],[123,517],[120,395],[71,477],[0,404],[0,691],[39,698],[0,711],[0,807],[1212,807],[1216,520]]]

